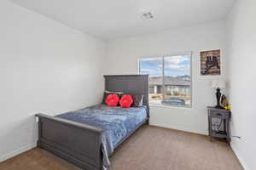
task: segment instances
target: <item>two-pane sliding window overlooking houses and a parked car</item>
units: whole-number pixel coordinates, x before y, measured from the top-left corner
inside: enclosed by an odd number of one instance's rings
[[[139,73],[149,75],[149,104],[191,105],[191,53],[143,57]]]

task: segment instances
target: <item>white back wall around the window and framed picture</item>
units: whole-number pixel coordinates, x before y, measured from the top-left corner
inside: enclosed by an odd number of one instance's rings
[[[174,29],[158,34],[108,42],[106,74],[137,74],[137,58],[154,54],[192,51],[193,108],[151,107],[150,123],[207,134],[207,105],[215,105],[211,81],[220,77],[200,76],[201,50],[222,49],[222,78],[225,78],[225,21]]]

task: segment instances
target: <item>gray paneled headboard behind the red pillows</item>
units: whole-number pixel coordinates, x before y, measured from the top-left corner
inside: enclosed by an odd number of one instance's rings
[[[148,75],[108,75],[104,77],[105,90],[120,91],[125,94],[143,94],[143,105],[148,106]]]

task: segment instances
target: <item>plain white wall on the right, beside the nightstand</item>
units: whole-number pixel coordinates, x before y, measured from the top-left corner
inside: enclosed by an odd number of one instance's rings
[[[229,79],[232,148],[246,170],[256,169],[256,1],[238,0],[229,16]]]

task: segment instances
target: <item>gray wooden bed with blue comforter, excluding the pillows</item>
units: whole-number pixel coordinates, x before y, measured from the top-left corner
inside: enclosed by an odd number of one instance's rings
[[[104,76],[105,90],[142,94],[143,106],[93,105],[58,116],[38,116],[38,146],[85,170],[108,169],[110,156],[148,123],[148,75]]]

